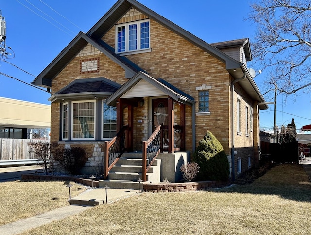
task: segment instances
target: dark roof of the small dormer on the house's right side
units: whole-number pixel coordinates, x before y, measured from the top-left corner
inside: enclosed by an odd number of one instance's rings
[[[252,60],[251,46],[250,46],[248,38],[235,39],[235,40],[218,42],[218,43],[211,43],[210,45],[220,50],[236,48],[238,46],[243,47],[245,51],[246,61]]]

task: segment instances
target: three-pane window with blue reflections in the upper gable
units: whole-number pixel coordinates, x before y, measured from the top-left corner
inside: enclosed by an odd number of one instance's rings
[[[116,53],[150,48],[150,20],[116,25]]]

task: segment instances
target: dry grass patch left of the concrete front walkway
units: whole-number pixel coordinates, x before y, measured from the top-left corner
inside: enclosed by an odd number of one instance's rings
[[[0,225],[69,205],[68,181],[11,181],[0,187]],[[71,196],[86,190],[70,182]]]

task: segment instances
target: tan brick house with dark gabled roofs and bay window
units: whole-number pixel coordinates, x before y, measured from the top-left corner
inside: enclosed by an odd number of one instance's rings
[[[51,141],[94,156],[122,133],[106,150],[109,168],[125,150],[142,151],[144,166],[155,152],[191,155],[209,130],[235,178],[258,164],[259,110],[267,109],[251,59],[248,39],[208,44],[136,0],[119,0],[33,84],[52,93]]]

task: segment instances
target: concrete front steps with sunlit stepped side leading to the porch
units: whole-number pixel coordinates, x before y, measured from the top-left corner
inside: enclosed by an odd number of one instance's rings
[[[155,159],[147,172],[147,182],[160,182],[160,167],[161,160]],[[142,153],[125,153],[108,173],[108,179],[99,181],[99,187],[139,190],[138,179],[142,179]],[[140,188],[143,188],[142,182]]]

